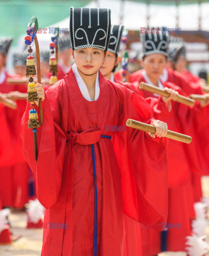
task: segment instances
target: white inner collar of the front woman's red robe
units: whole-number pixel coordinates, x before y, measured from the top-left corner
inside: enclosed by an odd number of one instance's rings
[[[86,87],[86,84],[83,81],[83,78],[81,77],[81,75],[78,73],[78,69],[76,64],[74,63],[74,65],[72,66],[73,69],[73,73],[76,77],[76,81],[78,83],[79,89],[81,90],[81,93],[83,95],[83,97],[86,100],[92,101],[91,97],[89,95],[89,91]],[[96,78],[96,84],[95,84],[95,99],[94,100],[98,100],[99,98],[99,93],[100,93],[100,86],[99,86],[99,71],[97,72],[97,78]]]

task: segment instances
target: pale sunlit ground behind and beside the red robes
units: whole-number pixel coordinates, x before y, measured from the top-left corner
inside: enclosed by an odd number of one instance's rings
[[[209,197],[209,177],[202,180],[204,196]],[[20,235],[11,245],[0,245],[1,256],[36,256],[41,255],[42,229],[26,229],[26,212],[12,211],[9,220],[13,235]],[[209,243],[209,226],[206,230]],[[209,248],[208,248],[209,249]],[[209,256],[209,253],[206,254]]]

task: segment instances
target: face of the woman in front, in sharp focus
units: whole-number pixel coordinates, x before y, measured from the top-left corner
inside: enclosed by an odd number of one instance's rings
[[[86,75],[97,73],[105,59],[104,51],[91,47],[74,50],[74,52],[70,49],[70,52],[77,68]]]

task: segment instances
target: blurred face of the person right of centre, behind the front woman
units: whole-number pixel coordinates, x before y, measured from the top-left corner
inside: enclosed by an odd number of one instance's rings
[[[146,70],[148,77],[158,79],[166,66],[166,57],[159,53],[150,54],[144,57],[141,66]]]

